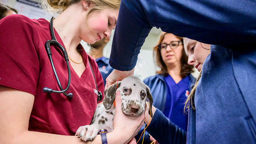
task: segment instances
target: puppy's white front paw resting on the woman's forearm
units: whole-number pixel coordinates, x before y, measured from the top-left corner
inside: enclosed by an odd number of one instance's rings
[[[80,126],[77,131],[76,135],[84,141],[87,140],[93,140],[96,135],[98,134],[99,128],[96,125],[85,125],[85,126]]]

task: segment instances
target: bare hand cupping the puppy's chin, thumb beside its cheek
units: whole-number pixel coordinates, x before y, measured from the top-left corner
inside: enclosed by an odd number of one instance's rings
[[[122,138],[120,139],[120,143],[126,144],[140,131],[140,127],[143,125],[144,115],[126,116],[121,109],[121,105],[120,92],[116,91],[116,114],[113,120],[113,132]],[[132,142],[134,143],[134,140]]]

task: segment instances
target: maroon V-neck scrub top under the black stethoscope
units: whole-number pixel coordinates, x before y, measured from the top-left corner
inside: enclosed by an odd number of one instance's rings
[[[56,39],[64,46],[57,31]],[[14,14],[0,20],[0,85],[11,87],[35,96],[29,119],[29,131],[75,135],[79,126],[91,123],[97,106],[94,71],[98,90],[103,93],[104,83],[98,65],[89,57],[82,45],[77,49],[83,57],[85,70],[79,77],[71,67],[71,84],[64,94],[44,93],[43,88],[60,90],[44,44],[51,39],[50,25],[45,19],[29,19]],[[68,68],[63,54],[51,46],[52,59],[62,87],[68,84]],[[11,97],[11,95],[10,95]]]

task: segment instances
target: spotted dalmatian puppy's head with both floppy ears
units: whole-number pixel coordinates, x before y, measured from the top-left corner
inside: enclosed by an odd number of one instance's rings
[[[116,98],[116,90],[120,91],[122,100],[122,111],[128,116],[140,116],[145,111],[146,100],[148,98],[150,110],[148,111],[151,117],[152,114],[152,95],[146,84],[144,84],[138,77],[130,76],[118,82],[117,89],[116,83],[109,86],[105,91],[105,98],[103,105],[106,109],[110,109]]]

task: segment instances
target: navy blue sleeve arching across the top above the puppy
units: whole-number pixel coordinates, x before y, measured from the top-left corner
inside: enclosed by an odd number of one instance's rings
[[[122,0],[109,64],[132,70],[152,27],[205,44],[255,44],[255,7],[255,0]]]

